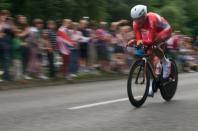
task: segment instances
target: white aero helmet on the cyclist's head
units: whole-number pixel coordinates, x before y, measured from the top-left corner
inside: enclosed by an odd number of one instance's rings
[[[147,7],[145,5],[136,5],[131,9],[131,17],[138,19],[147,13]]]

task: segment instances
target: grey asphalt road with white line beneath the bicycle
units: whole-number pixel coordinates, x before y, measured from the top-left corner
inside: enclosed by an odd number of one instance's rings
[[[0,131],[198,131],[198,73],[182,74],[171,102],[139,109],[126,80],[0,92]]]

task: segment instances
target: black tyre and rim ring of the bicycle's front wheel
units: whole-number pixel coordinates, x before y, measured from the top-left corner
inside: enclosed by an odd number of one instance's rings
[[[143,96],[140,100],[136,100],[134,98],[134,95],[133,95],[133,92],[132,92],[132,88],[133,88],[132,79],[135,79],[135,78],[133,78],[133,74],[134,74],[135,69],[137,67],[140,67],[140,66],[144,67],[144,60],[137,60],[132,65],[132,67],[130,69],[129,76],[128,76],[128,80],[127,80],[127,93],[128,93],[129,101],[133,106],[135,106],[137,108],[142,106],[142,104],[144,104],[144,102],[146,101],[146,98],[148,96],[148,91],[149,91],[149,85],[150,85],[150,75],[149,75],[148,68],[146,67],[147,69],[146,69],[146,88],[145,88],[145,92],[144,92],[144,94],[143,94]]]

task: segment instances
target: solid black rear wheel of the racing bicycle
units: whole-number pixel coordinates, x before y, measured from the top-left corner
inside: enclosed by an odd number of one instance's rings
[[[171,61],[170,81],[160,88],[162,98],[166,101],[170,101],[173,98],[177,90],[177,84],[178,84],[177,65],[174,60],[170,59],[170,61]]]

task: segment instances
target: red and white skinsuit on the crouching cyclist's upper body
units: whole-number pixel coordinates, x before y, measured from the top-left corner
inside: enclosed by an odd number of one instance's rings
[[[156,38],[158,42],[164,42],[172,33],[171,26],[167,20],[152,12],[146,14],[146,21],[143,25],[134,21],[133,29],[136,41],[142,40],[144,45],[152,45],[156,41]]]

